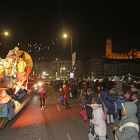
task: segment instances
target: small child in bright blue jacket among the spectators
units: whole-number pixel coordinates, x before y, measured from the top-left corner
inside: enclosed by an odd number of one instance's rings
[[[122,91],[119,91],[118,92],[118,105],[117,105],[117,113],[115,114],[114,116],[114,119],[117,118],[117,116],[119,115],[119,119],[118,120],[121,120],[121,110],[122,110],[122,105],[121,103],[124,103],[125,102],[125,99],[123,98],[123,94],[122,94]]]

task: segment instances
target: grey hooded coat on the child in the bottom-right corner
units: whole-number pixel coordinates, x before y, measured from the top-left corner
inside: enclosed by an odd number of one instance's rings
[[[123,108],[125,108],[126,116],[123,116],[119,126],[123,126],[126,123],[132,122],[138,124],[138,119],[136,117],[137,106],[133,102],[125,102],[122,104]],[[120,131],[118,129],[116,131],[116,136],[119,140],[138,140],[138,131],[135,127],[126,126]]]

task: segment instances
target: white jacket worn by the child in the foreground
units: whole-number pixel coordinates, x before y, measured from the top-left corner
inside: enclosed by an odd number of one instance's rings
[[[103,120],[103,109],[99,104],[91,104],[90,107],[93,109],[90,123],[94,124],[94,132],[98,136],[106,136],[106,123]]]

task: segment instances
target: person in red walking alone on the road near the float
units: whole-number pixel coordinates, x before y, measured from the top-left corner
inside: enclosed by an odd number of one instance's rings
[[[46,89],[45,89],[44,85],[39,87],[38,94],[39,94],[39,97],[40,97],[41,110],[44,110],[45,98],[46,98]]]

